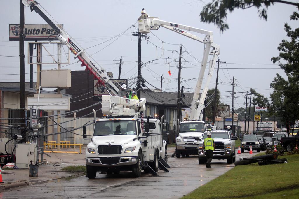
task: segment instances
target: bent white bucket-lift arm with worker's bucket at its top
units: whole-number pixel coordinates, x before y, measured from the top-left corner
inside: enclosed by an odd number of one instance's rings
[[[196,83],[193,100],[191,102],[190,116],[189,116],[189,120],[202,121],[201,112],[202,112],[202,109],[204,109],[204,107],[205,107],[204,106],[205,98],[207,96],[208,87],[209,87],[210,80],[213,75],[215,63],[216,63],[216,60],[219,55],[219,45],[213,43],[213,33],[208,30],[202,30],[199,28],[194,28],[194,27],[190,27],[190,26],[186,26],[186,25],[162,21],[156,17],[148,17],[146,19],[138,20],[138,28],[139,28],[139,32],[141,32],[141,33],[150,33],[150,30],[158,30],[160,26],[205,44],[204,54],[202,57],[202,64],[201,64],[201,68],[199,71],[199,76],[198,76],[198,80]],[[205,37],[200,38],[196,35],[193,35],[191,33],[183,31],[181,29],[201,33],[201,34],[204,34]],[[210,51],[211,47],[212,47],[212,50]],[[202,87],[202,80],[203,80],[203,77],[205,74],[205,68],[207,65],[209,55],[212,55],[212,58],[209,61],[210,63],[209,63],[208,77],[206,80],[205,88],[202,91],[202,95],[200,96],[200,99],[198,100],[200,88]]]

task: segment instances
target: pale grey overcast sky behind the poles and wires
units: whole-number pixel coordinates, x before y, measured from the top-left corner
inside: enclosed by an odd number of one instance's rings
[[[227,64],[220,65],[218,82],[232,82],[234,77],[237,83],[235,92],[246,92],[250,88],[266,94],[273,91],[269,85],[276,73],[285,77],[283,70],[270,60],[271,57],[278,55],[277,46],[281,40],[288,39],[283,30],[283,24],[288,22],[292,27],[298,27],[298,21],[289,20],[289,16],[296,11],[296,7],[280,3],[269,7],[267,21],[258,17],[255,7],[235,10],[227,18],[229,30],[220,33],[214,24],[200,22],[199,13],[204,6],[202,1],[39,0],[38,2],[58,23],[64,24],[65,30],[76,40],[77,44],[84,49],[91,47],[86,52],[89,55],[95,53],[92,58],[106,71],[112,71],[115,78],[118,78],[119,61],[117,60],[121,56],[124,61],[121,78],[137,76],[138,38],[132,36],[132,32],[137,31],[132,24],[138,27],[137,18],[142,8],[145,8],[150,16],[164,21],[213,31],[214,43],[220,45],[220,61],[227,62]],[[2,16],[0,55],[5,55],[1,56],[0,74],[18,74],[19,58],[6,56],[19,55],[18,41],[8,41],[9,24],[19,24],[19,1],[4,1],[0,11]],[[31,13],[29,7],[26,7],[25,24],[44,23],[45,21],[37,13]],[[177,90],[178,69],[176,65],[179,61],[179,44],[183,45],[182,51],[184,52],[182,81],[198,77],[203,44],[162,27],[152,33],[148,34],[150,37],[148,42],[142,41],[141,60],[143,63],[158,58],[169,57],[172,60],[159,60],[142,67],[142,75],[146,81],[151,82],[155,87],[160,87],[160,76],[163,75],[162,88],[165,91]],[[198,33],[194,34],[204,37]],[[106,42],[100,44],[104,41]],[[94,45],[96,46],[92,47]],[[28,41],[25,41],[26,56],[27,47]],[[49,48],[50,51],[53,50],[53,47]],[[43,54],[47,53],[43,52]],[[28,59],[25,58],[25,72],[29,73],[27,61]],[[73,55],[71,55],[71,63],[74,62]],[[33,68],[33,71],[36,71],[36,66]],[[52,68],[54,65],[43,65],[43,69]],[[79,63],[65,66],[62,69],[84,70]],[[171,76],[168,75],[168,70],[171,71]],[[19,75],[0,75],[0,78],[1,82],[19,82]],[[25,75],[25,81],[29,81],[29,74]],[[35,74],[33,81],[36,81]],[[215,82],[216,70],[209,88],[215,88]],[[193,92],[195,84],[196,79],[181,83],[185,92]],[[147,86],[152,88],[149,84]],[[221,101],[231,106],[232,98],[229,93],[232,91],[231,83],[221,83],[218,88],[223,91]],[[235,96],[237,97],[234,101],[235,109],[244,107],[244,95],[236,93]]]

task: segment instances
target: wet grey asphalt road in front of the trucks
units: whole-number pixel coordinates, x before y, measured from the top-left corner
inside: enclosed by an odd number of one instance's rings
[[[256,152],[254,154],[257,154]],[[237,154],[250,157],[249,152]],[[180,198],[199,186],[217,178],[234,164],[226,160],[213,160],[212,168],[198,164],[198,156],[188,158],[168,158],[170,172],[158,171],[158,176],[142,173],[141,178],[133,178],[131,172],[119,175],[97,173],[96,179],[84,176],[54,180],[7,190],[3,198]]]

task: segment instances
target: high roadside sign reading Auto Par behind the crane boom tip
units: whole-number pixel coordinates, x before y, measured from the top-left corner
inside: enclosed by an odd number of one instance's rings
[[[56,24],[58,27],[63,29],[63,24]],[[50,27],[49,24],[25,24],[24,34],[25,41],[48,41],[48,37],[51,34],[57,33]],[[19,24],[9,25],[9,41],[19,41],[20,26]],[[57,40],[55,35],[50,36],[51,39]]]

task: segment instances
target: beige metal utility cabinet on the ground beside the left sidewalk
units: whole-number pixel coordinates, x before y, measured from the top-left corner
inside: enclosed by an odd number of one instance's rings
[[[36,144],[17,144],[16,145],[16,166],[20,169],[29,169],[30,160],[36,162]]]

